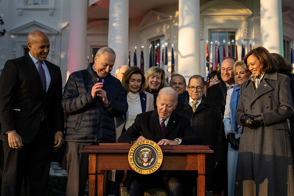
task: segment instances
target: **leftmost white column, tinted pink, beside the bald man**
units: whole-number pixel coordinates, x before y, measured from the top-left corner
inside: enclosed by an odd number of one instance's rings
[[[67,78],[87,68],[87,0],[70,1]]]

